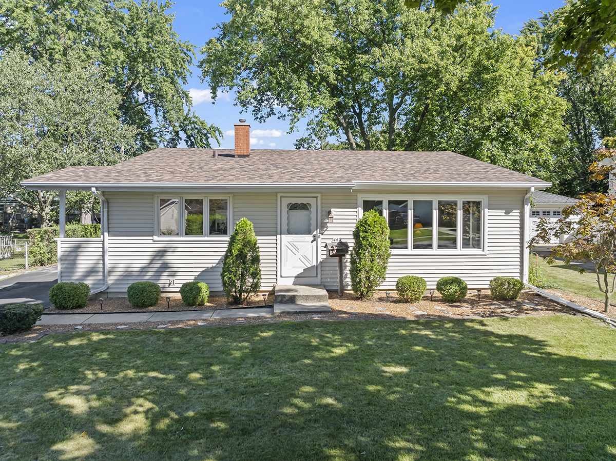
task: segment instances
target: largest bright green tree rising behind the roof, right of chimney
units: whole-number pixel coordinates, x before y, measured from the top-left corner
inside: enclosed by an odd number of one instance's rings
[[[259,121],[309,118],[298,147],[453,150],[548,176],[564,141],[557,76],[535,46],[493,31],[483,3],[444,16],[399,0],[227,0],[201,50],[214,94],[237,92]]]

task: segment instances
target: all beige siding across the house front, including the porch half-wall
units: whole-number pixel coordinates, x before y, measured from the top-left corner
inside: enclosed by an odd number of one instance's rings
[[[444,194],[433,188],[432,192]],[[338,259],[326,255],[325,243],[333,238],[349,242],[357,222],[358,194],[386,196],[392,194],[430,194],[424,189],[405,191],[328,191],[321,193],[320,264],[322,284],[328,289],[338,287]],[[443,276],[463,278],[471,288],[488,286],[494,276],[521,277],[522,216],[524,190],[496,189],[455,191],[448,196],[488,196],[487,251],[432,252],[392,254],[386,281],[381,289],[394,289],[403,275],[418,275],[429,287]],[[179,196],[181,194],[168,194]],[[193,194],[194,195],[194,194]],[[205,194],[204,194],[205,195]],[[299,194],[298,194],[299,195]],[[310,195],[310,194],[307,194]],[[109,201],[109,292],[125,293],[136,281],[158,283],[163,291],[177,292],[182,283],[200,280],[213,292],[222,291],[220,270],[228,239],[214,238],[154,238],[155,193],[105,193]],[[277,193],[235,193],[232,199],[233,222],[242,217],[254,224],[261,249],[262,290],[271,289],[277,281]],[[333,222],[327,215],[333,210]],[[102,283],[102,245],[100,239],[83,243],[63,239],[61,246],[63,281]],[[344,258],[344,285],[350,289],[349,256]],[[98,277],[98,278],[97,278]],[[169,286],[169,279],[174,281]]]

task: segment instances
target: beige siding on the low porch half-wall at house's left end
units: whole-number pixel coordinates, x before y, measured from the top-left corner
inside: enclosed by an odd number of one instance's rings
[[[103,242],[100,238],[58,239],[60,282],[83,282],[103,286]]]

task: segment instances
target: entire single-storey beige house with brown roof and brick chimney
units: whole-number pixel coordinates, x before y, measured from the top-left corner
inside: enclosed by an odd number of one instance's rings
[[[355,223],[369,209],[391,229],[382,289],[403,275],[429,287],[443,276],[471,288],[495,276],[527,278],[529,194],[550,183],[448,151],[250,151],[250,126],[235,130],[235,150],[159,148],[24,181],[59,190],[61,207],[66,190],[103,197],[101,239],[63,238],[61,223],[59,280],[110,295],[142,280],[168,292],[200,280],[219,292],[229,235],[246,217],[261,249],[262,290],[277,283],[335,289],[338,261],[324,244],[341,239],[352,248]]]

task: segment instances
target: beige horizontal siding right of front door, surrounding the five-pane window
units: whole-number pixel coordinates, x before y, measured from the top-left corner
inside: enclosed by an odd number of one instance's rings
[[[392,194],[428,194],[426,190],[407,191],[361,191],[349,194],[323,194],[322,245],[339,237],[348,241],[352,247],[352,232],[357,217],[357,196],[387,196]],[[487,251],[482,254],[472,252],[431,252],[406,254],[395,253],[389,259],[387,276],[381,289],[395,289],[398,278],[416,275],[426,279],[428,287],[435,287],[444,276],[460,277],[469,288],[485,288],[495,276],[521,278],[522,265],[522,220],[525,191],[502,190],[488,195],[487,210]],[[434,194],[444,194],[439,191]],[[482,190],[464,190],[451,193],[459,195],[486,195]],[[326,223],[327,211],[334,210],[334,222]],[[322,283],[327,289],[338,287],[338,260],[326,257],[322,249]],[[344,259],[344,286],[351,288],[349,275],[350,259]]]

